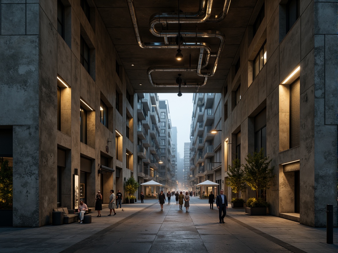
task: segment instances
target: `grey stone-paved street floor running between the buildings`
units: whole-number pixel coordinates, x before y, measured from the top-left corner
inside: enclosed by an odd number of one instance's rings
[[[171,198],[173,200],[174,198]],[[92,213],[91,224],[65,224],[41,228],[0,228],[0,252],[338,252],[338,229],[334,244],[326,244],[326,228],[312,228],[275,216],[250,216],[244,209],[227,209],[219,224],[218,209],[208,200],[192,197],[189,212],[176,201],[137,201],[115,209],[117,215]]]

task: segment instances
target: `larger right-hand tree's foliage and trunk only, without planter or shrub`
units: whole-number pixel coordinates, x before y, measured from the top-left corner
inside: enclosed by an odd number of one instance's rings
[[[259,153],[254,152],[253,155],[249,153],[245,161],[245,181],[252,190],[256,191],[256,199],[258,200],[258,191],[269,189],[271,179],[274,177],[272,175],[274,166],[269,168],[272,159],[269,160],[269,157],[264,157],[264,149],[261,148]]]

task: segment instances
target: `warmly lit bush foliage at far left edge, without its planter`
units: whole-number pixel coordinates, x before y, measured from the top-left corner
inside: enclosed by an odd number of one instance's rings
[[[0,209],[13,208],[13,167],[0,157]]]

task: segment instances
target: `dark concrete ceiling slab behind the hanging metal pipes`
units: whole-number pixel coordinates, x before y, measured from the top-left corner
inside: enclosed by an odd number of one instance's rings
[[[178,85],[177,87],[152,86],[148,79],[147,69],[151,66],[189,68],[190,64],[191,68],[197,68],[200,49],[182,48],[184,58],[181,61],[178,61],[175,59],[177,48],[141,48],[136,41],[126,1],[94,0],[94,2],[116,47],[120,61],[126,70],[135,92],[178,92]],[[232,0],[227,15],[222,21],[197,24],[198,31],[218,30],[225,35],[225,44],[216,72],[213,76],[208,77],[207,84],[200,87],[198,92],[221,92],[256,2],[256,0]],[[197,12],[200,3],[198,0],[180,0],[179,4],[181,13],[189,13]],[[214,0],[211,15],[221,13],[223,4],[224,0]],[[164,43],[164,38],[155,37],[151,34],[149,30],[149,18],[154,13],[178,13],[178,0],[135,0],[134,6],[142,40],[144,42]],[[159,30],[163,29],[161,24],[156,25],[156,27]],[[177,31],[178,24],[169,23],[168,30]],[[181,31],[195,32],[196,24],[181,23]],[[168,38],[168,41],[174,42],[175,38]],[[184,37],[184,41],[195,42],[196,38]],[[197,38],[197,42],[210,44],[212,53],[216,53],[220,40],[218,38]],[[189,60],[190,54],[191,62]],[[211,72],[214,63],[215,57],[210,57],[207,69],[203,69],[203,71]],[[134,64],[134,66],[131,66],[131,64]],[[196,71],[156,71],[152,73],[153,82],[175,85],[176,78],[178,77],[177,74],[179,73],[182,74],[183,83],[202,83],[204,79],[202,76],[198,76]],[[142,86],[140,84],[142,84]],[[196,92],[196,87],[184,87],[182,84],[181,91],[182,93]]]

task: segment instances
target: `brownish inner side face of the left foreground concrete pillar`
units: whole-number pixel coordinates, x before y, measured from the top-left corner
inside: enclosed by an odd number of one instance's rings
[[[56,143],[57,98],[54,92],[56,88],[57,75],[57,31],[52,26],[50,19],[40,9],[40,117],[39,117],[39,180],[40,180],[40,203],[39,203],[39,226],[45,226],[51,222],[51,211],[55,207],[57,192]],[[51,208],[52,207],[52,208]]]

